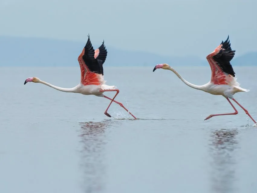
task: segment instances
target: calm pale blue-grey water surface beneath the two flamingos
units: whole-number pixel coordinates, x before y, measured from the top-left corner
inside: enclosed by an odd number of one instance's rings
[[[208,65],[208,64],[207,64]],[[105,66],[117,100],[63,93],[80,81],[74,68],[1,68],[0,192],[255,193],[257,128],[222,96],[186,86],[168,70]],[[174,67],[204,84],[210,67]],[[257,119],[255,67],[235,67],[248,93],[235,98]],[[114,93],[106,93],[113,96]],[[248,126],[249,125],[249,126]]]

